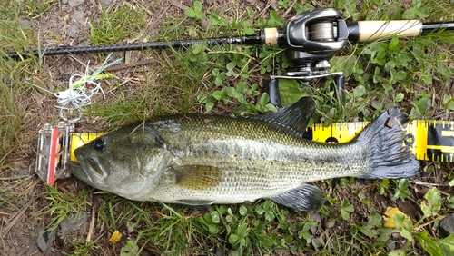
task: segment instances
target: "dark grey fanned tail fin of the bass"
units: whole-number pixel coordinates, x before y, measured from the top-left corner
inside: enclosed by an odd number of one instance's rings
[[[370,123],[355,139],[367,149],[365,179],[399,179],[416,175],[419,161],[410,150],[414,139],[406,135],[410,121],[406,113],[392,108]]]

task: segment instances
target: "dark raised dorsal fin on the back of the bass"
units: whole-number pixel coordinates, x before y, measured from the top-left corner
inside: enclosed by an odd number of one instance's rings
[[[277,112],[267,112],[252,118],[291,127],[299,133],[304,133],[312,113],[315,101],[311,97],[302,97],[297,103],[282,107]]]

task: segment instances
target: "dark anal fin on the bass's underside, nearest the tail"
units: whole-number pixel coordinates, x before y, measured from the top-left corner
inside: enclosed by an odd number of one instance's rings
[[[306,212],[317,210],[326,202],[323,192],[310,184],[303,184],[301,187],[269,197],[269,199],[287,207]]]

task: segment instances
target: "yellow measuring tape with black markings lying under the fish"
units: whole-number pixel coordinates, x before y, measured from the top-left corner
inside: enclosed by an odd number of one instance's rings
[[[313,124],[306,130],[304,137],[321,143],[350,142],[368,122],[333,123],[324,127]],[[454,122],[414,120],[407,125],[409,145],[419,160],[454,162]],[[72,133],[71,161],[77,161],[74,149],[88,143],[104,133]]]

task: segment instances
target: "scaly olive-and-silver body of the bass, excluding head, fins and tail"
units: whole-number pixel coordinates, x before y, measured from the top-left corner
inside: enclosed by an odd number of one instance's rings
[[[367,166],[355,144],[314,143],[279,123],[186,114],[144,125],[161,135],[174,156],[173,164],[212,165],[222,172],[222,181],[206,191],[181,188],[168,172],[159,186],[147,192],[165,201],[253,201],[283,188],[297,188],[302,182],[355,176]],[[139,127],[135,133],[140,131]]]

